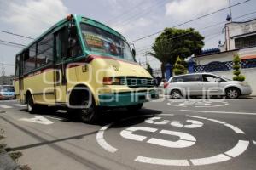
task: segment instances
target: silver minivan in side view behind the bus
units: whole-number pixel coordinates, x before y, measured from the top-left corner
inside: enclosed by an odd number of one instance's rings
[[[171,77],[164,86],[166,94],[173,99],[184,96],[226,96],[236,99],[241,95],[252,94],[247,82],[232,81],[212,73],[195,73]]]

